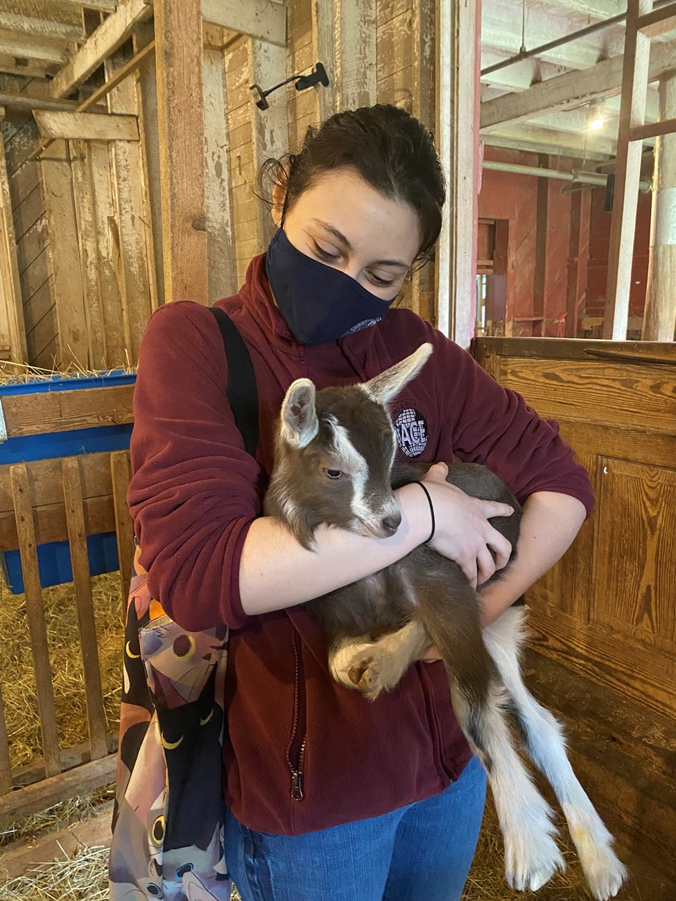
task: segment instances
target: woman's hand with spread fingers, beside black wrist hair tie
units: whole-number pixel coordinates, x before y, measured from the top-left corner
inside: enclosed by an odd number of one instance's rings
[[[476,588],[487,582],[496,569],[507,565],[512,546],[489,523],[493,516],[510,516],[508,504],[470,497],[446,481],[448,467],[435,463],[422,481],[434,506],[435,529],[430,547],[453,560]],[[496,557],[490,551],[494,551]]]

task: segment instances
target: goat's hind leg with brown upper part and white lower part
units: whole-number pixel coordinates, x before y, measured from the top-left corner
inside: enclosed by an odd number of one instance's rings
[[[443,605],[430,610],[436,605],[428,598],[421,613],[448,671],[453,711],[489,777],[505,842],[507,882],[521,891],[536,891],[557,869],[565,869],[565,862],[554,841],[552,810],[515,751],[507,693],[481,640],[479,617],[466,612],[473,600],[457,605],[458,616],[450,618]],[[459,618],[464,619],[460,630]]]

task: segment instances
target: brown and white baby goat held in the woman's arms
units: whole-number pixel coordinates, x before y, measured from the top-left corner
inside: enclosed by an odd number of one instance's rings
[[[424,344],[363,385],[315,394],[313,383],[300,378],[288,389],[265,507],[307,549],[320,523],[371,537],[397,532],[401,514],[393,488],[419,480],[427,468],[394,467],[387,405],[431,352]],[[514,516],[492,523],[516,547],[520,507],[497,477],[477,465],[453,464],[448,481],[472,496],[514,506]],[[612,836],[571,769],[561,725],[521,677],[524,608],[510,608],[481,633],[480,597],[456,563],[425,545],[306,607],[326,634],[334,678],[370,698],[395,687],[430,644],[437,648],[453,710],[488,773],[512,887],[536,890],[565,864],[554,842],[553,812],[514,749],[507,712],[562,805],[593,896],[606,901],[617,894],[626,869],[612,851]]]

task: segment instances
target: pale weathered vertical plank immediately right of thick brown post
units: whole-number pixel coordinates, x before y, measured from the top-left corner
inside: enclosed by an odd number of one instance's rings
[[[204,51],[206,258],[209,303],[237,291],[223,50]]]

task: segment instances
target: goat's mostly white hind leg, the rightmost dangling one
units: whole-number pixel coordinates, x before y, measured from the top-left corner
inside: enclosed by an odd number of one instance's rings
[[[561,724],[525,687],[518,663],[524,617],[523,608],[510,608],[484,631],[484,642],[512,701],[525,750],[548,778],[562,806],[591,892],[597,901],[607,901],[617,895],[626,868],[617,860],[612,835],[573,772]]]

